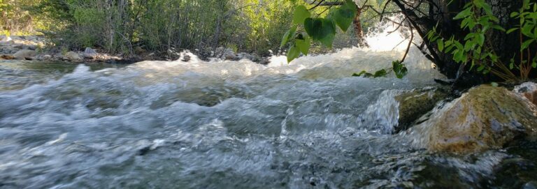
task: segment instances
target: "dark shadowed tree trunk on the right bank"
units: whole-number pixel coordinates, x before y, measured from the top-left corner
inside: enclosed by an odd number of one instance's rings
[[[393,0],[396,6],[401,8],[403,15],[410,20],[417,33],[424,39],[427,49],[440,72],[450,79],[459,79],[458,84],[461,86],[472,86],[491,80],[498,80],[499,78],[468,71],[470,63],[465,67],[461,67],[459,63],[452,60],[451,54],[439,52],[436,42],[429,41],[425,35],[437,26],[436,30],[441,33],[443,38],[454,36],[456,39],[464,39],[467,32],[459,27],[460,20],[453,20],[453,17],[463,10],[464,5],[468,1],[429,0],[429,12],[427,15],[424,15],[419,10],[410,7],[408,5],[409,3],[404,0]],[[501,27],[511,29],[518,24],[518,20],[510,18],[510,13],[522,7],[521,0],[486,0],[486,2],[492,6],[492,12],[499,18],[499,25]],[[412,4],[410,3],[410,5]],[[489,41],[492,44],[492,47],[494,47],[494,50],[500,56],[503,63],[509,63],[513,56],[520,54],[520,40],[518,38],[517,32],[506,34],[501,31],[493,31],[489,32],[485,41]],[[517,70],[513,70],[513,72],[517,72]]]

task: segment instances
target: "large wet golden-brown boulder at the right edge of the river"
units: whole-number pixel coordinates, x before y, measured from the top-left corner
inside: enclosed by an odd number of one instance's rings
[[[415,142],[431,151],[475,153],[537,136],[537,107],[502,87],[478,86],[414,126]]]

